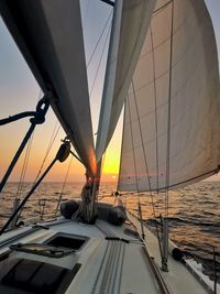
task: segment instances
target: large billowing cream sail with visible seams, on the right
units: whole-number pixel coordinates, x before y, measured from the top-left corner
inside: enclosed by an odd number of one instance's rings
[[[157,1],[125,106],[119,189],[180,187],[218,171],[220,94],[204,1]]]

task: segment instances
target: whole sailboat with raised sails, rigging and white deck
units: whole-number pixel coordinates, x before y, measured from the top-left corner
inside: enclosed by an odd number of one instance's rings
[[[43,98],[1,182],[51,106],[67,138],[1,228],[0,293],[217,293],[168,241],[168,192],[220,170],[220,85],[212,23],[202,0],[102,0],[113,7],[96,148],[78,0],[2,0],[1,17]],[[123,107],[124,106],[124,107]],[[97,203],[101,163],[124,109],[118,190],[165,194],[163,243],[121,205]],[[84,165],[80,202],[62,217],[10,225],[56,161]],[[177,253],[175,253],[177,252]]]

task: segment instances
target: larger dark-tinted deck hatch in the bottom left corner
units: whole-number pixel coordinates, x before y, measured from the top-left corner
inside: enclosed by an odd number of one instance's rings
[[[67,270],[40,261],[9,259],[0,262],[0,293],[63,293],[79,269],[79,263]]]

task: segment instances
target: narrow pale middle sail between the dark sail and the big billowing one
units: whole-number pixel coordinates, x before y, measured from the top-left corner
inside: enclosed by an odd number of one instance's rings
[[[116,1],[97,135],[97,160],[113,134],[150,24],[155,0]]]

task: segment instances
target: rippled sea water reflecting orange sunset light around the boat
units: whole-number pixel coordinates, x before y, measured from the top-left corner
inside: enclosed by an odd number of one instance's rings
[[[31,188],[30,183],[20,186],[9,183],[0,195],[1,211],[0,226],[10,215],[13,199],[23,197]],[[63,200],[78,198],[82,183],[43,183],[26,203],[21,218],[35,217],[44,214],[53,217],[59,197]],[[63,190],[63,192],[62,192]],[[114,183],[103,183],[100,186],[99,197],[102,202],[114,202]],[[45,200],[46,199],[46,200]],[[155,216],[164,215],[164,195],[147,193],[122,195],[124,205],[138,215],[138,203],[142,207],[143,219],[155,227]],[[202,272],[213,279],[213,248],[217,258],[218,283],[220,283],[220,182],[200,182],[183,189],[169,192],[169,239],[173,240],[188,255],[197,257],[204,264]]]

